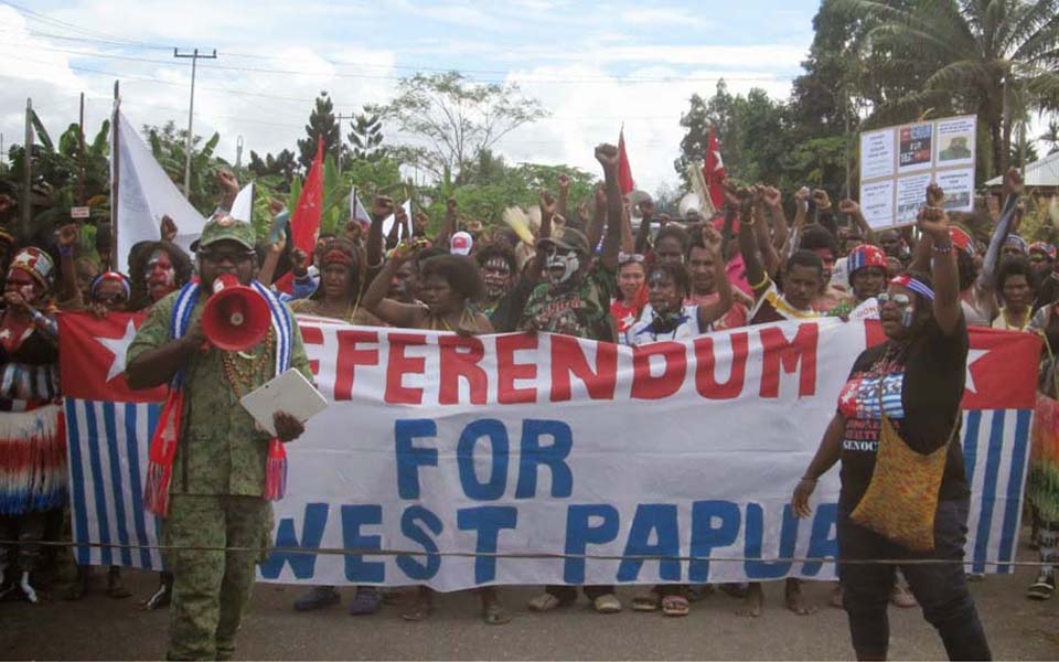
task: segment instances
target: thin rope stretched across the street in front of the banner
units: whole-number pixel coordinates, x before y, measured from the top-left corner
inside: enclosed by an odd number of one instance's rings
[[[41,547],[93,547],[110,549],[154,549],[158,552],[280,552],[284,554],[320,554],[324,556],[426,556],[426,557],[454,557],[454,558],[512,558],[512,559],[592,559],[592,560],[708,560],[712,563],[826,563],[826,564],[848,564],[848,565],[987,565],[987,566],[1017,566],[1017,567],[1042,567],[1059,565],[1056,562],[1042,560],[973,560],[973,559],[951,559],[951,558],[857,558],[838,560],[831,556],[781,556],[770,558],[751,558],[748,556],[671,556],[657,554],[555,554],[543,552],[422,552],[404,549],[366,549],[361,547],[225,547],[215,545],[132,545],[121,543],[75,543],[66,541],[10,541],[0,540],[3,546],[41,546]]]

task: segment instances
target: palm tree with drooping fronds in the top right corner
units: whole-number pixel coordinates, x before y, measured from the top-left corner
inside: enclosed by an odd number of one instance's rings
[[[1059,0],[833,1],[878,22],[870,49],[928,65],[918,89],[878,113],[900,121],[929,108],[975,113],[994,172],[1007,169],[1016,118],[1059,107]]]

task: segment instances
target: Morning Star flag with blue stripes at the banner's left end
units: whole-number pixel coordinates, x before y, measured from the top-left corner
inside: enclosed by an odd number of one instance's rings
[[[131,391],[124,374],[126,350],[143,318],[58,318],[73,540],[130,546],[74,547],[78,564],[162,568],[159,552],[147,548],[158,544],[158,526],[143,510],[143,478],[165,391]]]

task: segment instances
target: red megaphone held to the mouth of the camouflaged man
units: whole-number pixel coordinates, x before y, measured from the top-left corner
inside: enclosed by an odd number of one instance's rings
[[[240,352],[261,342],[272,323],[265,298],[239,285],[233,274],[213,280],[213,295],[202,310],[206,340],[227,352]]]

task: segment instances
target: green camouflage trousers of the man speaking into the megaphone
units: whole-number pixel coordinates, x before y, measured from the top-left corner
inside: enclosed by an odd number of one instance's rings
[[[261,547],[271,536],[271,504],[259,496],[172,494],[164,524],[174,547]],[[258,552],[171,549],[170,660],[228,660],[254,587]]]

